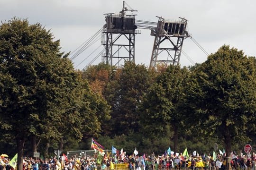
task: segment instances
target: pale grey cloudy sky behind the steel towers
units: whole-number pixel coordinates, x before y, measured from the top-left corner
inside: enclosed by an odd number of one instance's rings
[[[207,51],[215,53],[226,44],[256,56],[256,0],[126,0],[137,12],[137,20],[157,22],[165,19],[188,20],[187,30]],[[99,31],[105,22],[104,13],[122,9],[123,0],[0,0],[0,20],[13,17],[27,18],[30,24],[40,23],[60,40],[61,51],[75,51],[83,42]],[[149,65],[154,43],[150,31],[141,29],[136,35],[136,64]],[[73,59],[74,68],[82,69],[98,55],[95,42]],[[103,46],[102,46],[103,49]],[[207,55],[190,38],[183,42],[181,66],[202,63]],[[91,54],[91,55],[90,55]],[[72,56],[72,55],[71,55]],[[84,60],[84,61],[83,61]],[[101,57],[92,64],[101,62]]]

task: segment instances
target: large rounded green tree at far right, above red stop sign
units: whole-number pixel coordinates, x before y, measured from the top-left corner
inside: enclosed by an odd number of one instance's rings
[[[227,156],[234,143],[249,141],[246,133],[255,126],[255,59],[222,46],[194,70],[188,85],[189,116],[204,135],[223,141]]]

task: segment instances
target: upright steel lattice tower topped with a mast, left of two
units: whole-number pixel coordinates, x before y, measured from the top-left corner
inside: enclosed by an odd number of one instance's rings
[[[135,15],[126,15],[126,11],[136,10],[126,8],[123,1],[118,15],[105,14],[106,25],[101,44],[105,45],[106,53],[102,60],[111,66],[119,66],[121,61],[135,61],[135,35],[139,31],[136,31]]]

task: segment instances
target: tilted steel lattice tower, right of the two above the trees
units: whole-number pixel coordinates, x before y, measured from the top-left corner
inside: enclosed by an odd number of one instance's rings
[[[158,17],[155,30],[151,30],[151,35],[155,36],[153,51],[150,60],[150,68],[155,68],[158,64],[178,64],[180,61],[183,40],[190,35],[186,31],[187,20],[165,20]],[[160,55],[161,54],[161,55]]]

